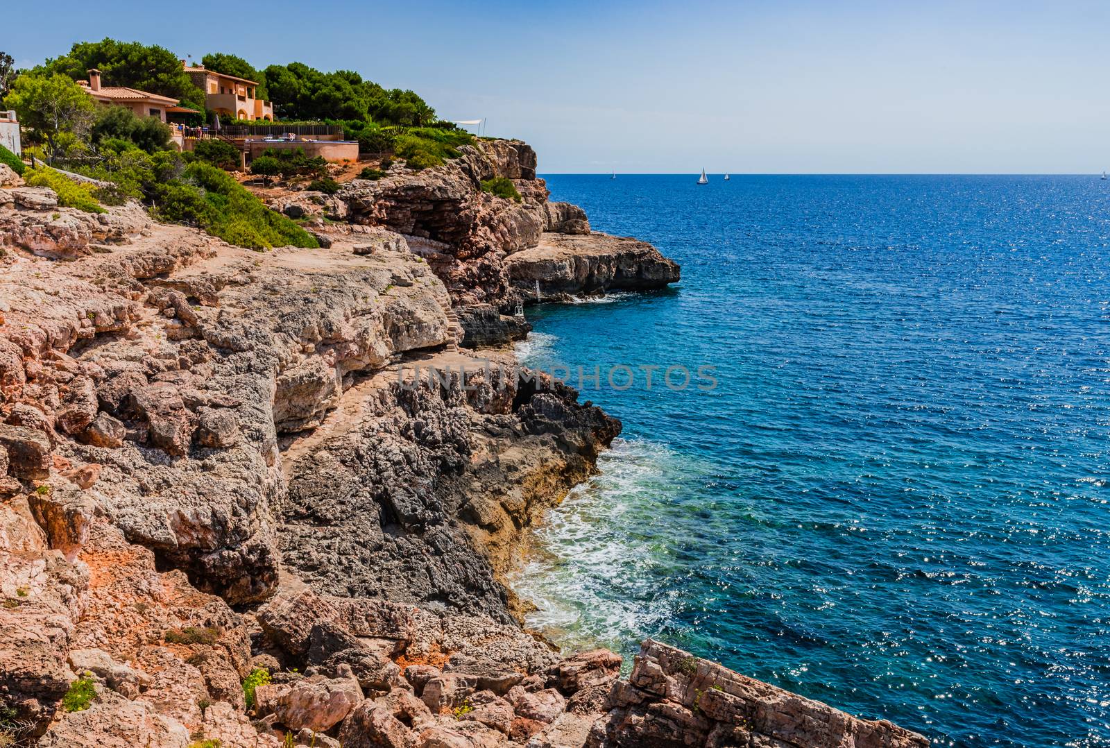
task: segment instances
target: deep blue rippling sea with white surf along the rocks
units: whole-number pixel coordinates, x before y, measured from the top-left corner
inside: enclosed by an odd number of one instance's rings
[[[624,422],[515,580],[532,624],[937,745],[1110,746],[1110,182],[695,178],[547,176],[683,280],[527,309],[521,354],[599,365]]]

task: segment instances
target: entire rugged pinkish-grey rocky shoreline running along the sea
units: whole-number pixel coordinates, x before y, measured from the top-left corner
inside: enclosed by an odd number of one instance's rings
[[[549,299],[679,275],[548,202],[535,166],[524,143],[482,141],[284,195],[324,249],[268,253],[137,205],[59,208],[0,171],[0,734],[927,745],[660,643],[620,678],[617,655],[565,657],[519,625],[502,579],[523,534],[620,424],[467,348],[526,335],[537,283]],[[482,192],[492,176],[521,201]]]

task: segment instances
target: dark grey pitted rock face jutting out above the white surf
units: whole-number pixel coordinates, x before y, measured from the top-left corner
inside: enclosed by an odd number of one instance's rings
[[[573,391],[522,392],[512,375],[476,362],[464,390],[457,370],[437,361],[442,368],[425,375],[446,372],[448,383],[402,385],[389,374],[356,385],[341,404],[357,414],[342,434],[286,453],[282,555],[331,595],[508,621],[475,535],[516,536],[589,474],[619,424],[578,405]]]

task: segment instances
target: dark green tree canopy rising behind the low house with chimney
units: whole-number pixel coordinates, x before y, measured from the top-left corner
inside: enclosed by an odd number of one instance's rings
[[[104,85],[123,85],[140,91],[180,99],[183,107],[204,109],[204,93],[193,85],[181,60],[164,47],[138,41],[81,41],[63,54],[34,69],[47,74],[61,73],[78,81],[88,78],[91,68],[100,70]]]

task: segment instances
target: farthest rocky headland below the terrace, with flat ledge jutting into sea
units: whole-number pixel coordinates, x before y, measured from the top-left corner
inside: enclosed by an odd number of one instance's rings
[[[336,199],[346,219],[411,237],[451,292],[470,347],[526,335],[514,312],[535,301],[537,280],[544,297],[678,281],[678,265],[650,244],[592,232],[582,209],[548,202],[535,169],[525,143],[478,141],[442,169],[413,174],[395,165],[382,180],[354,180]],[[512,180],[519,201],[483,192],[482,181],[495,176]]]

